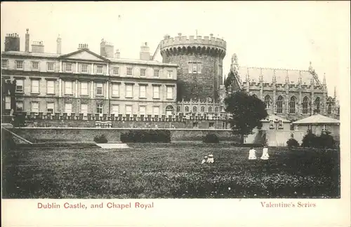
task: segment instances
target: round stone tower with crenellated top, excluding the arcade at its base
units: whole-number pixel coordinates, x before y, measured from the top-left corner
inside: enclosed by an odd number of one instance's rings
[[[223,84],[223,58],[227,43],[210,36],[164,36],[160,52],[164,63],[178,64],[177,100],[208,97],[218,102]]]

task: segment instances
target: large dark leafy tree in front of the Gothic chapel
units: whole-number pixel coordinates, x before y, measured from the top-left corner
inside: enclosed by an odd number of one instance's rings
[[[237,91],[225,98],[225,111],[232,114],[230,125],[234,135],[241,135],[241,144],[244,144],[244,136],[252,133],[253,128],[262,127],[261,120],[268,116],[265,103],[248,95],[246,92]]]

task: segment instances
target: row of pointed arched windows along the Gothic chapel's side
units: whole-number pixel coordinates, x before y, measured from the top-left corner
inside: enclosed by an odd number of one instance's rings
[[[253,95],[256,97],[256,95]],[[269,95],[265,96],[265,106],[267,109],[270,109],[270,106],[272,104],[272,99],[270,98]],[[290,98],[290,102],[289,102],[289,114],[296,114],[296,102],[297,99],[296,97],[291,97]],[[276,102],[276,106],[277,106],[277,114],[283,114],[283,105],[284,105],[284,98],[282,96],[279,96]],[[320,106],[321,106],[321,100],[319,97],[316,97],[316,99],[314,99],[314,108],[316,109],[316,111],[320,111]],[[310,112],[310,99],[308,99],[307,97],[303,98],[303,102],[302,102],[302,107],[303,107],[303,114],[308,114]],[[331,104],[328,104],[328,108],[327,108],[327,112],[328,114],[331,114]]]

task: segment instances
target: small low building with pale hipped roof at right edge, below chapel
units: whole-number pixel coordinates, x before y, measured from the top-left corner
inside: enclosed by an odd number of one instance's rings
[[[321,135],[322,132],[329,131],[334,139],[338,140],[340,138],[340,121],[321,114],[312,115],[291,124],[295,130],[305,132],[312,130],[315,135]]]

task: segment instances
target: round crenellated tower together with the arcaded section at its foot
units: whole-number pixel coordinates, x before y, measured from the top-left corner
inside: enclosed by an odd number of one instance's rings
[[[225,118],[223,58],[227,43],[210,36],[164,36],[159,44],[164,63],[178,64],[177,114]],[[197,124],[197,123],[194,123]],[[211,124],[209,125],[211,128]],[[225,121],[222,128],[226,128]]]

